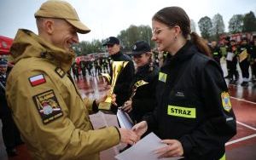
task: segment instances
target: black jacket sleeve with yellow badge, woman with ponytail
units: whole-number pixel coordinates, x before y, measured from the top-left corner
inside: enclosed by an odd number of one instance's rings
[[[206,155],[224,144],[236,134],[236,117],[229,106],[227,86],[221,68],[212,60],[208,61],[199,73],[198,85],[203,104],[206,107],[207,118],[204,123],[191,134],[185,134],[180,141],[184,155]],[[225,94],[225,97],[222,95]],[[227,100],[227,101],[225,101]]]

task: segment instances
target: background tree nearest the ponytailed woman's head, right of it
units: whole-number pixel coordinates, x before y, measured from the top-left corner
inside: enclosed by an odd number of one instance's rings
[[[198,21],[201,37],[208,39],[211,36],[212,20],[205,16]]]

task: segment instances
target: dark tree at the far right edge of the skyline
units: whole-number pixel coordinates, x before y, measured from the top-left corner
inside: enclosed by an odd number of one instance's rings
[[[256,18],[252,11],[244,15],[242,31],[256,31]]]

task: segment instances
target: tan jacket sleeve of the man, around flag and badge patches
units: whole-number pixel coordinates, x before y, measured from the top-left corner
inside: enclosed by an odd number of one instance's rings
[[[97,154],[119,143],[117,128],[108,127],[93,130],[90,118],[88,114],[85,114],[87,109],[83,103],[81,106],[69,106],[72,105],[72,102],[67,104],[68,100],[63,99],[63,94],[71,93],[68,90],[65,93],[61,92],[61,85],[54,83],[52,77],[46,73],[44,73],[46,83],[32,87],[27,81],[27,77],[37,74],[42,74],[42,72],[26,71],[19,78],[10,77],[9,83],[11,84],[9,84],[7,96],[9,105],[14,111],[15,123],[17,123],[20,133],[25,138],[26,143],[32,147],[32,150],[44,150],[50,159],[79,159],[79,157]],[[58,101],[63,115],[44,124],[38,106],[32,97],[47,90],[53,90],[55,100]],[[76,100],[78,97],[73,101]],[[83,112],[84,114],[81,114],[79,118],[84,119],[87,123],[80,123],[80,127],[75,126],[70,119],[70,117],[75,116],[71,114],[72,110]]]

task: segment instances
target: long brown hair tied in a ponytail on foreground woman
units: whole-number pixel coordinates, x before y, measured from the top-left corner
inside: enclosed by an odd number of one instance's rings
[[[192,43],[195,43],[196,47],[201,51],[202,54],[211,56],[211,51],[203,39],[195,32],[190,29],[190,20],[188,14],[180,7],[166,7],[160,9],[154,14],[152,20],[159,21],[166,26],[179,26],[181,28],[183,37],[191,39]]]

